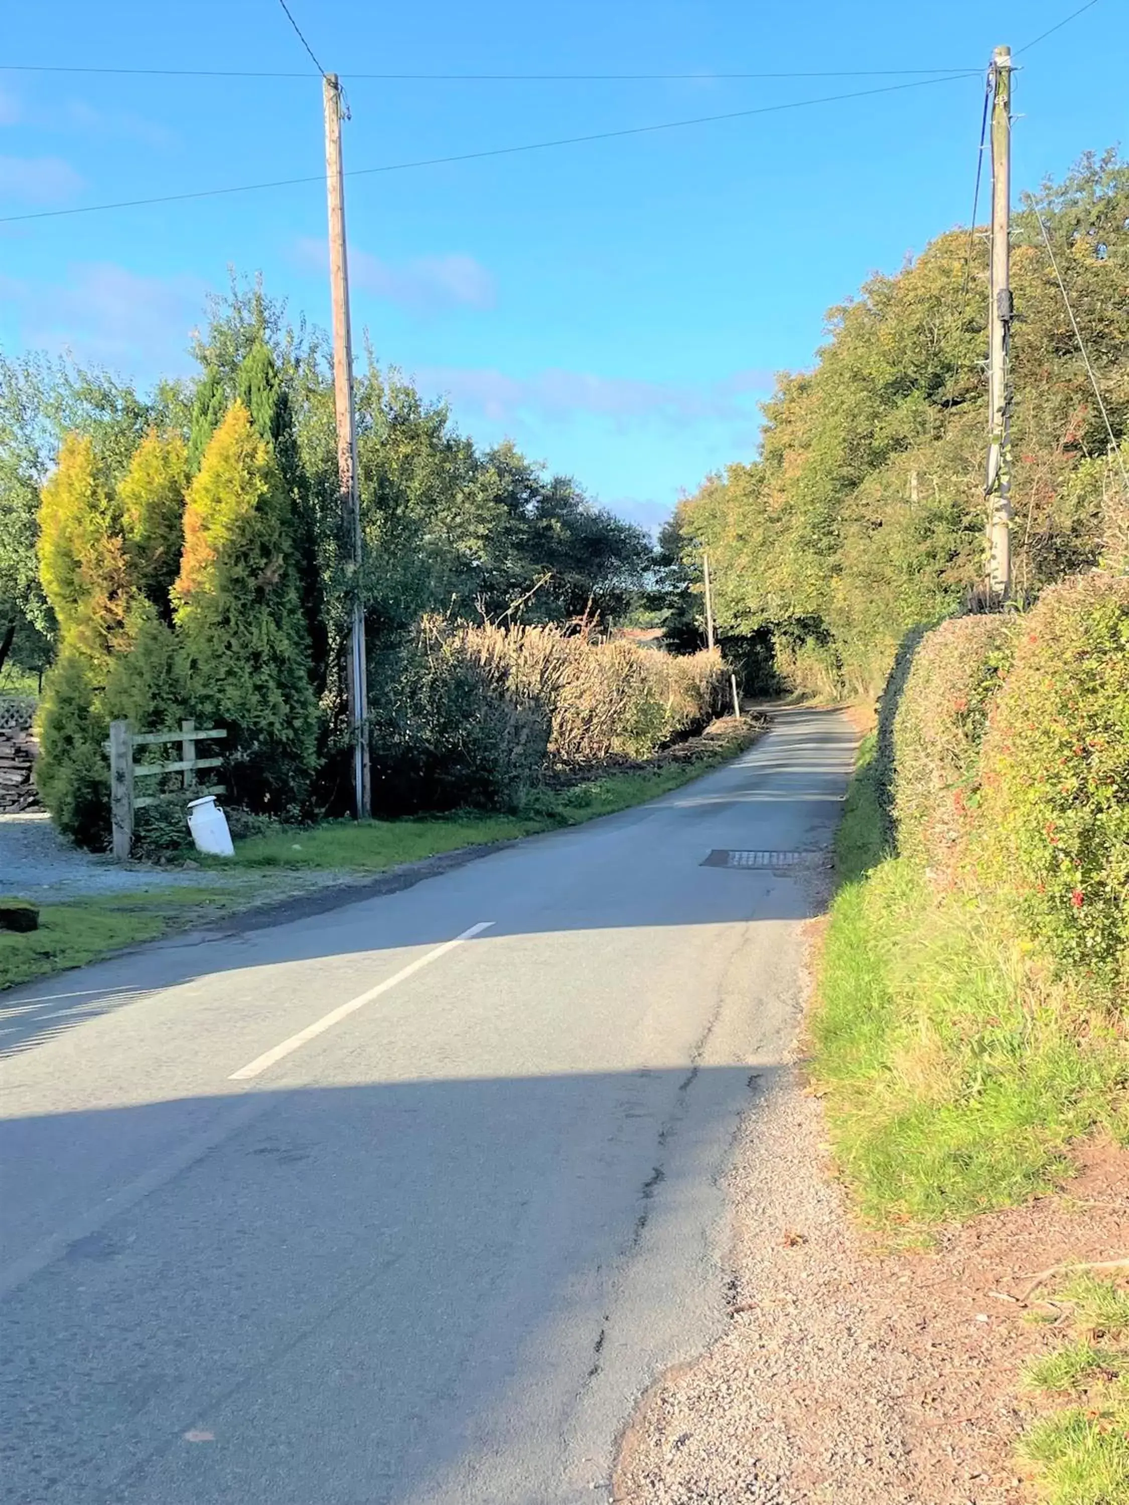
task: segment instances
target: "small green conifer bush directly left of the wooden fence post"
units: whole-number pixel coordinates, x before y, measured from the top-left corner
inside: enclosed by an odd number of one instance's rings
[[[38,731],[35,781],[51,819],[72,841],[104,850],[110,840],[110,766],[102,743],[110,725],[89,661],[78,649],[63,646],[47,674]]]

